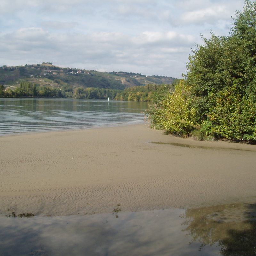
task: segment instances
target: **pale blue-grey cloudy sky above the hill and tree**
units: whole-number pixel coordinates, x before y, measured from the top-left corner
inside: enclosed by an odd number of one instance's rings
[[[191,48],[228,35],[239,0],[1,0],[0,66],[181,78]]]

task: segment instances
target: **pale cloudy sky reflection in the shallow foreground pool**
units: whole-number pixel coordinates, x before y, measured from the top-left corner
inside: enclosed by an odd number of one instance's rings
[[[212,255],[182,229],[183,209],[91,216],[0,218],[0,255]]]

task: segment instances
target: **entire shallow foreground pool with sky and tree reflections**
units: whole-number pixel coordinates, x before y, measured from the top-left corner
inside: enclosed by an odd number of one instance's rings
[[[0,255],[256,255],[256,207],[0,218]]]

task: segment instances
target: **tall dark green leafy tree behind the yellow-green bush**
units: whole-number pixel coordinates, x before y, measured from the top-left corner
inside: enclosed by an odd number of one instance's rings
[[[231,139],[256,138],[256,3],[236,13],[229,36],[204,39],[190,56],[186,82],[197,122]]]

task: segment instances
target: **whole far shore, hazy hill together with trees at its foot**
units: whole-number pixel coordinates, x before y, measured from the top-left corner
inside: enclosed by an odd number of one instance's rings
[[[0,97],[55,97],[150,101],[159,84],[177,83],[166,76],[61,68],[52,62],[0,67]],[[146,85],[146,86],[145,86]],[[131,88],[126,89],[125,88]],[[124,91],[124,93],[123,93]],[[136,94],[136,95],[135,95]]]

